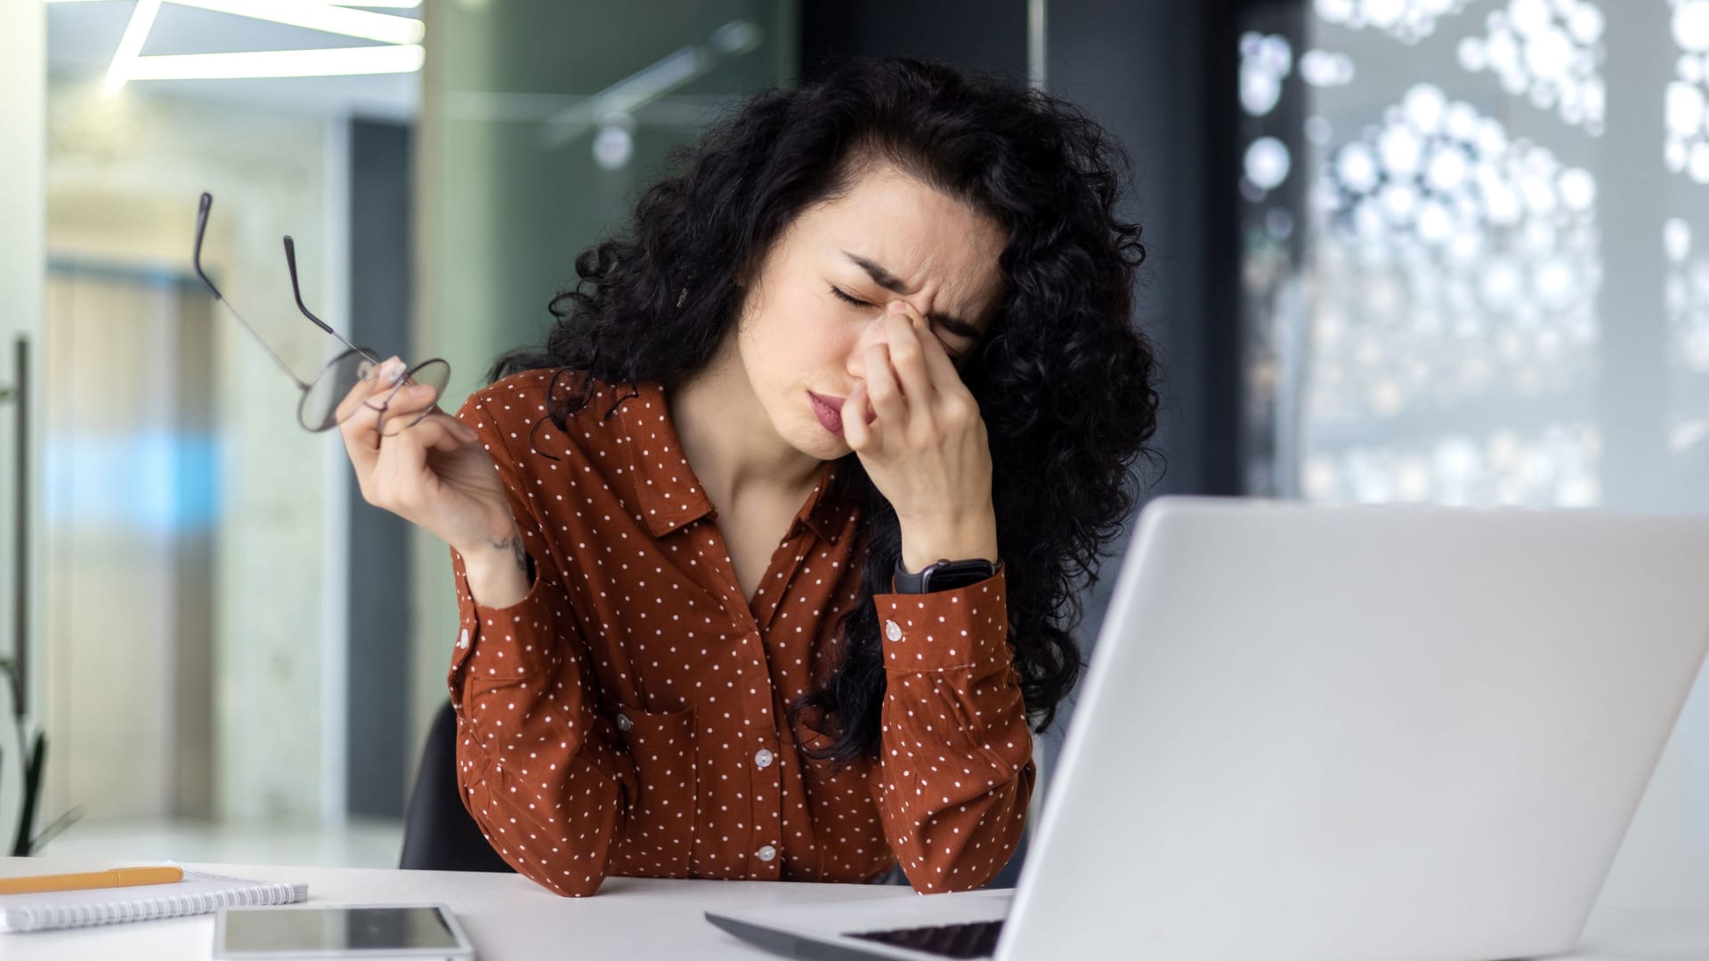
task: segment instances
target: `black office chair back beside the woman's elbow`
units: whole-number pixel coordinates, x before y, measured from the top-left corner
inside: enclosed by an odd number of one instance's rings
[[[446,701],[434,715],[403,812],[405,870],[516,870],[492,850],[480,826],[463,807],[456,783],[456,713]]]

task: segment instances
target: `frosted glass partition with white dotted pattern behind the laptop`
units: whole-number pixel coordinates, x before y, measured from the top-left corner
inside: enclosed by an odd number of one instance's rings
[[[1709,510],[1709,2],[1242,27],[1248,491]],[[1704,687],[1605,901],[1709,903]]]

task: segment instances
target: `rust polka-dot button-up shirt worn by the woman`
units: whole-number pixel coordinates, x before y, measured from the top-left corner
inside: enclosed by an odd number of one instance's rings
[[[747,598],[663,390],[600,385],[566,434],[542,421],[550,380],[514,374],[458,412],[537,569],[492,609],[451,556],[458,781],[494,850],[574,896],[608,874],[870,881],[897,860],[921,893],[990,882],[1034,778],[1003,575],[868,602],[882,749],[834,769],[802,752],[829,739],[786,708],[831,670],[858,604],[861,515],[829,494],[836,465]]]

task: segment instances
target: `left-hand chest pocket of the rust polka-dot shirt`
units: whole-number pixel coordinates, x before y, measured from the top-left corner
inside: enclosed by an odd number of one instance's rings
[[[694,708],[641,711],[619,705],[612,718],[629,758],[634,787],[624,785],[624,821],[610,874],[689,877],[694,864]]]

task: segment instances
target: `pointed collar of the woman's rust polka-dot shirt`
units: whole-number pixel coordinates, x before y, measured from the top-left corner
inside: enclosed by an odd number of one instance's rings
[[[617,397],[624,393],[624,388],[619,388]],[[663,537],[711,516],[713,503],[689,467],[689,460],[682,457],[682,439],[670,421],[665,390],[658,383],[637,385],[632,397],[619,400],[617,419],[622,422],[636,503],[653,537]],[[819,472],[813,492],[790,525],[791,535],[807,527],[827,544],[837,542],[849,511],[843,510],[841,499],[834,496],[836,477],[837,462],[827,462]]]

